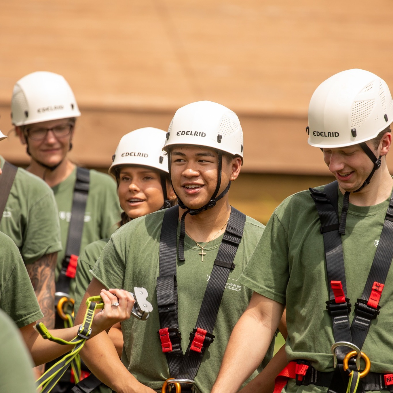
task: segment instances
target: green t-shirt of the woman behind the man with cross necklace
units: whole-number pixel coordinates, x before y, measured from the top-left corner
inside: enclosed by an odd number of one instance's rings
[[[93,275],[90,270],[94,267],[108,241],[109,239],[100,239],[92,242],[88,244],[81,252],[81,255],[79,255],[78,266],[75,274],[75,315],[79,310],[84,293],[86,292],[90,281],[92,281]]]

